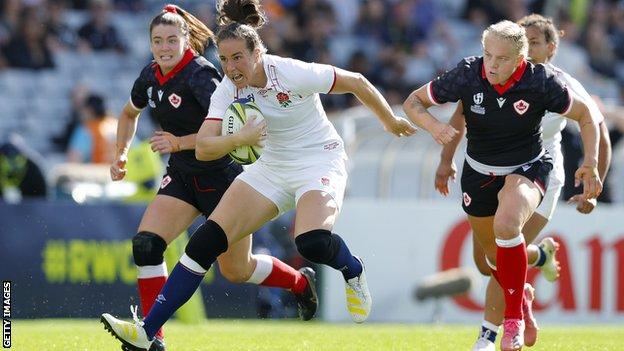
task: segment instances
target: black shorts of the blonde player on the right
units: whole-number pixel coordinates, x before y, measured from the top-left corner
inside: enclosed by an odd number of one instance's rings
[[[546,154],[535,162],[516,168],[511,174],[522,175],[535,183],[542,189],[543,197],[548,188],[548,175],[552,169],[552,158]],[[479,173],[464,161],[461,178],[464,212],[474,217],[493,216],[498,207],[498,192],[503,185],[505,185],[505,176]]]

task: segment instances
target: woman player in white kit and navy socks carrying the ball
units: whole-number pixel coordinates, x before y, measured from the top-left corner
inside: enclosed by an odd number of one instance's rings
[[[361,74],[329,65],[266,54],[256,31],[264,23],[259,0],[219,3],[217,46],[226,74],[212,95],[196,141],[200,160],[219,159],[241,145],[236,135],[220,135],[227,107],[252,99],[267,124],[262,156],[241,173],[203,225],[165,284],[143,323],[105,314],[126,347],[149,349],[160,328],[196,290],[215,259],[232,245],[289,209],[296,208],[295,243],[309,261],[340,270],[347,308],[356,323],[366,320],[371,296],[362,261],[332,233],[344,196],[347,156],[343,141],[327,119],[319,93],[353,93],[397,136],[416,129],[395,116],[379,91]],[[199,234],[199,235],[198,235]]]

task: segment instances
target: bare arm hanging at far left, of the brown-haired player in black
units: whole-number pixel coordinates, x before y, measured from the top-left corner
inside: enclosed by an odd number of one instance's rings
[[[119,115],[115,159],[110,167],[111,179],[114,181],[122,180],[126,176],[128,149],[136,133],[140,113],[141,110],[136,109],[132,103],[128,101]]]

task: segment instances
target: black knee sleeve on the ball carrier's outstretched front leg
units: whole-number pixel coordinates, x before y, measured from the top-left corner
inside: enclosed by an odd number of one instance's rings
[[[208,270],[227,248],[227,235],[217,222],[209,219],[193,233],[184,252],[190,259]]]

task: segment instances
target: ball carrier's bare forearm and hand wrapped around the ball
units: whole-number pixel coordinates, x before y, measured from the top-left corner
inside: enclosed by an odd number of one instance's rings
[[[220,159],[244,145],[262,145],[266,139],[266,121],[256,123],[254,117],[232,135],[221,135],[221,120],[207,118],[199,128],[195,142],[195,158],[200,161]]]

